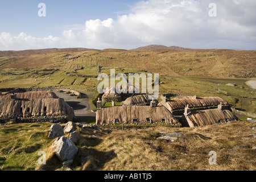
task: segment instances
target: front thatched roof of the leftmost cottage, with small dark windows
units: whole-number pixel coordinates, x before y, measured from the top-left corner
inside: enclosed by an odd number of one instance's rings
[[[17,94],[18,95],[18,94]],[[17,98],[0,97],[0,117],[40,117],[65,115],[72,120],[74,111],[60,98]]]

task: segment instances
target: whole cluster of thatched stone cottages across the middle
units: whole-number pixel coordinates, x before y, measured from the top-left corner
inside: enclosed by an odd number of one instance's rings
[[[196,127],[239,121],[232,113],[232,106],[220,97],[187,96],[170,100],[167,99],[167,94],[162,94],[160,95],[161,101],[158,102],[158,100],[151,100],[148,94],[135,93],[137,89],[132,87],[134,93],[113,93],[110,86],[104,94],[100,95],[101,97],[98,97],[96,125],[164,124]],[[1,123],[46,122],[47,119],[48,121],[68,122],[76,119],[73,108],[63,98],[57,97],[55,92],[22,92],[20,91],[22,89],[18,89],[15,93],[15,90],[0,96]],[[74,96],[74,92],[69,93]],[[127,94],[130,97],[127,97]],[[123,97],[126,100],[122,101]],[[102,102],[111,102],[112,106],[102,106]],[[115,106],[115,102],[122,104]]]

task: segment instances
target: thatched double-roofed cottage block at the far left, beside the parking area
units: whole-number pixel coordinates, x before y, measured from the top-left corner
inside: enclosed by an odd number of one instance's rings
[[[72,121],[71,106],[53,92],[26,92],[0,96],[0,118],[63,116]]]

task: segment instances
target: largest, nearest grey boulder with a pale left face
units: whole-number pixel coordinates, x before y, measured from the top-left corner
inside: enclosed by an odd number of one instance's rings
[[[76,145],[67,137],[57,138],[52,145],[57,158],[61,162],[74,159],[79,151],[79,148],[77,148]]]

